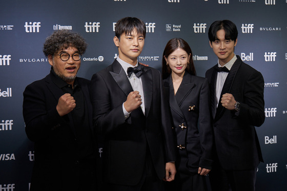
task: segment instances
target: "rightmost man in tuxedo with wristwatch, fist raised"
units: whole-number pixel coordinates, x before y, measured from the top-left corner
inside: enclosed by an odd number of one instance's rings
[[[264,122],[264,80],[260,72],[234,54],[237,28],[217,20],[209,28],[218,63],[206,72],[211,91],[216,163],[210,173],[213,191],[255,190],[263,162],[254,126]]]

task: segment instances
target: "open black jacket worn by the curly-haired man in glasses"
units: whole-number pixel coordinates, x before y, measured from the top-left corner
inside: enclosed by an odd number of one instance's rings
[[[58,99],[64,93],[51,75],[29,84],[23,93],[26,134],[35,143],[30,190],[77,190],[81,161],[77,156],[76,129],[71,113],[60,117],[56,110]],[[92,132],[90,80],[77,78],[77,81],[84,94],[85,114]]]

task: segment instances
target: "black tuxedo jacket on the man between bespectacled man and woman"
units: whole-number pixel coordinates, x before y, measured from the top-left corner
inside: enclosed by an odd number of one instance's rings
[[[104,181],[108,183],[137,184],[145,168],[147,150],[160,179],[165,177],[165,163],[175,161],[170,110],[160,73],[145,67],[141,80],[146,114],[139,107],[127,119],[122,103],[133,89],[120,63],[115,60],[91,80],[94,126],[105,139],[102,157]]]

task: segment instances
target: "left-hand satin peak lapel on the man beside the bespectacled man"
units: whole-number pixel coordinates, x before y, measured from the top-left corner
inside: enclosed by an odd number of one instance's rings
[[[129,93],[133,91],[133,88],[126,72],[117,60],[112,63],[112,70],[113,71],[110,71],[110,74],[113,76],[119,88],[128,96]]]

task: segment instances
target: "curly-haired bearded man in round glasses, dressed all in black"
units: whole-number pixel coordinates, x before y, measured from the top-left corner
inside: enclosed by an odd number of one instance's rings
[[[55,31],[43,49],[50,74],[23,93],[25,130],[35,143],[30,191],[96,190],[90,80],[76,77],[86,48],[78,33]]]

